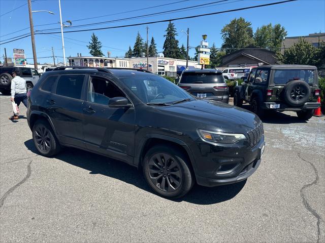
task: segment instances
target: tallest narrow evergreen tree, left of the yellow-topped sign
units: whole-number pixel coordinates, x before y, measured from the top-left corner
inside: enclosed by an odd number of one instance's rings
[[[176,35],[177,32],[176,32],[175,25],[170,21],[166,29],[166,34],[164,35],[164,37],[166,37],[164,43],[164,51],[163,51],[165,57],[180,58],[178,41],[175,38]]]

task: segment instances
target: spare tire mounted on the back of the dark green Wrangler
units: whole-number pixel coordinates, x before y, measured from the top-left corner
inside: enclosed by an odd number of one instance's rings
[[[303,80],[292,80],[284,86],[283,99],[290,106],[302,106],[309,96],[309,85]]]

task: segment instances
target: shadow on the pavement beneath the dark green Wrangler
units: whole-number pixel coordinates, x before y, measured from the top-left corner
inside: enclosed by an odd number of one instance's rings
[[[243,105],[242,108],[250,110],[250,105]],[[269,124],[291,124],[291,123],[307,123],[306,120],[298,118],[296,112],[290,112],[292,115],[283,112],[267,110],[265,117],[261,118],[263,123]]]

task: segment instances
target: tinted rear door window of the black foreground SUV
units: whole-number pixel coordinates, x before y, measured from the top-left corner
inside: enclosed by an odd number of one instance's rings
[[[62,75],[60,76],[56,94],[74,99],[81,99],[81,90],[85,75]]]

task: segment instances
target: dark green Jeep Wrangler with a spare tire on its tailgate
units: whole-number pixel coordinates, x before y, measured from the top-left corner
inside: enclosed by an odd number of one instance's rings
[[[262,117],[267,110],[296,111],[308,120],[320,106],[317,68],[307,65],[268,65],[253,68],[241,86],[235,87],[234,105],[243,101]]]

